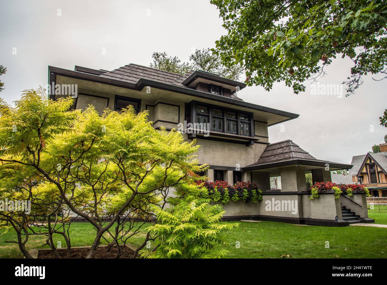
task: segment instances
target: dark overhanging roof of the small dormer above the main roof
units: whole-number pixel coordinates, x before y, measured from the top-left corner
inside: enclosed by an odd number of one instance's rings
[[[194,73],[188,76],[187,79],[182,82],[182,84],[191,88],[195,88],[196,84],[199,82],[222,86],[223,88],[230,89],[231,94],[246,87],[245,83],[224,78],[217,74],[205,72],[202,70],[196,70]]]

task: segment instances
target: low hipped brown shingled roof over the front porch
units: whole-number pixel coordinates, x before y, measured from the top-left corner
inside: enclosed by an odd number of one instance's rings
[[[328,163],[331,168],[347,169],[352,167],[352,165],[346,165],[332,161],[318,160],[314,156],[310,155],[307,151],[300,148],[300,146],[293,143],[293,141],[288,139],[286,141],[268,144],[264,152],[260,156],[259,160],[256,163],[247,166],[246,168],[253,170],[293,164],[303,164],[321,167],[325,166],[325,163]]]

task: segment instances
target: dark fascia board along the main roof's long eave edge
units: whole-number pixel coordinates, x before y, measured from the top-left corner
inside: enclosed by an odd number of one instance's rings
[[[53,66],[48,66],[48,71],[49,71],[50,82],[52,77],[54,77],[55,75],[60,75],[60,76],[83,79],[83,80],[88,80],[88,81],[93,81],[98,83],[104,83],[104,84],[118,86],[122,88],[135,89],[139,91],[142,90],[145,86],[151,86],[153,88],[163,89],[163,90],[172,91],[176,93],[182,93],[190,96],[195,96],[198,98],[214,100],[222,103],[231,104],[234,106],[240,106],[240,107],[249,108],[252,110],[257,110],[261,112],[272,113],[272,114],[288,117],[288,119],[286,120],[283,120],[281,122],[277,122],[271,125],[276,125],[288,120],[298,118],[300,116],[298,114],[289,113],[289,112],[277,110],[274,108],[255,105],[245,101],[240,101],[240,100],[236,100],[236,99],[232,99],[232,98],[228,98],[220,95],[202,92],[202,91],[198,91],[187,87],[177,86],[173,84],[166,84],[166,83],[154,81],[151,79],[140,78],[136,83],[131,83],[131,82],[127,82],[119,79],[112,79],[109,77],[102,77],[94,74],[68,70],[68,69],[63,69],[63,68],[53,67]]]

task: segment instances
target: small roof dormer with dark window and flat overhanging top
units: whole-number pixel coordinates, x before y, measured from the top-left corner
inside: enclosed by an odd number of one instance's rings
[[[237,91],[246,87],[245,83],[227,79],[217,74],[196,70],[182,82],[183,85],[194,88],[198,91],[207,92],[215,95],[225,96],[233,99],[239,99],[232,96]],[[240,99],[239,99],[240,100]]]

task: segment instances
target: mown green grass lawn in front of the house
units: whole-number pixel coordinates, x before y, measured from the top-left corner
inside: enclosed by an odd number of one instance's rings
[[[383,214],[370,215],[379,219],[378,223],[387,218],[386,214],[380,218],[374,215]],[[94,234],[91,225],[73,223],[71,228],[72,246],[91,244]],[[143,231],[130,243],[139,245],[144,236]],[[0,257],[21,258],[17,244],[5,243],[5,240],[15,240],[14,233],[2,232],[0,235]],[[63,239],[57,240],[62,242],[62,247],[65,246]],[[329,248],[325,248],[326,241]],[[32,236],[27,249],[40,248],[44,243],[44,237]],[[227,233],[227,243],[217,245],[216,249],[228,250],[228,258],[281,258],[281,255],[290,255],[290,258],[387,258],[387,229],[240,222],[239,228]]]

